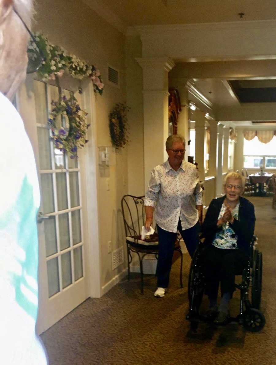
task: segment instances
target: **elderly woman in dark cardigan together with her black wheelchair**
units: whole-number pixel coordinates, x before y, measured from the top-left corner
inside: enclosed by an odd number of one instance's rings
[[[202,225],[201,238],[205,238],[205,240],[199,245],[191,264],[188,289],[190,310],[187,319],[193,321],[196,314],[200,318],[214,321],[216,324],[228,323],[230,319],[229,301],[237,287],[241,290],[241,312],[236,320],[243,316],[245,306],[247,316],[243,318],[244,325],[249,330],[257,331],[265,323],[264,316],[257,310],[260,305],[260,297],[259,301],[256,297],[257,294],[260,296],[261,290],[261,253],[258,254],[258,260],[256,254],[254,255],[254,270],[250,271],[253,258],[255,214],[253,204],[241,197],[244,184],[245,179],[241,174],[230,172],[225,177],[225,195],[213,199],[210,203]],[[259,265],[257,269],[256,263]],[[256,291],[252,294],[252,298],[257,303],[255,305],[257,309],[253,309],[248,300],[252,272],[254,283],[259,282],[259,284],[257,283],[259,287],[257,288],[256,285]],[[243,281],[240,285],[236,285],[235,275],[242,273]],[[218,306],[219,284],[221,284],[221,301]],[[209,310],[200,316],[198,312],[203,291],[209,299]],[[252,325],[253,322],[254,325]]]

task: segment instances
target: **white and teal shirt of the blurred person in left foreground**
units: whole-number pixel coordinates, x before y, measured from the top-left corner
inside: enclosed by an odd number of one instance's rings
[[[40,204],[34,152],[14,105],[0,92],[0,364],[45,365],[35,333]]]

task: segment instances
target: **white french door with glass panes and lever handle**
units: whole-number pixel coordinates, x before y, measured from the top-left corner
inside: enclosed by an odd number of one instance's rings
[[[62,92],[76,92],[79,81],[64,78]],[[54,84],[28,77],[19,93],[19,112],[31,139],[37,160],[41,190],[39,236],[39,312],[37,331],[42,333],[89,296],[85,275],[88,257],[82,200],[86,199],[83,152],[78,159],[54,148],[47,124],[51,100],[57,101]],[[85,179],[84,179],[85,180]]]

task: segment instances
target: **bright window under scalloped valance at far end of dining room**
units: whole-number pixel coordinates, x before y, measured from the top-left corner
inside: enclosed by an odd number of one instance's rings
[[[257,136],[251,141],[244,138],[244,168],[276,169],[276,136],[268,143],[262,143]]]

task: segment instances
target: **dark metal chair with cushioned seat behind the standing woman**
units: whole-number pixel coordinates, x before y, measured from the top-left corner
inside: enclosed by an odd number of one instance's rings
[[[128,266],[128,280],[130,280],[130,264],[132,261],[131,253],[136,253],[139,258],[140,275],[141,275],[141,293],[143,294],[143,258],[146,255],[154,254],[158,257],[158,234],[154,233],[150,238],[141,240],[141,230],[145,222],[144,214],[144,197],[124,195],[121,200],[122,213],[124,219],[124,229],[126,233],[127,245],[127,266]],[[180,253],[180,286],[182,284],[182,264],[183,254],[179,244],[180,238],[177,236],[175,243],[175,251]]]

